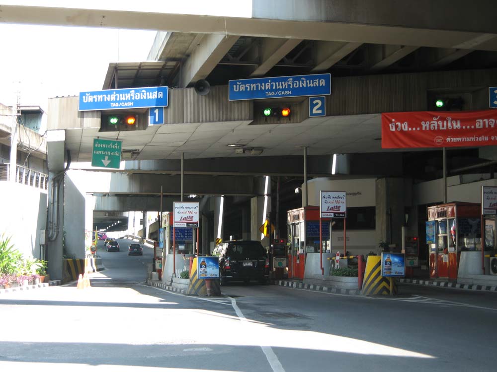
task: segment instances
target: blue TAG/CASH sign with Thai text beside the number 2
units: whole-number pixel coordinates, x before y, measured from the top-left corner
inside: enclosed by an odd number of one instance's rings
[[[331,94],[331,75],[259,77],[229,81],[230,101]]]

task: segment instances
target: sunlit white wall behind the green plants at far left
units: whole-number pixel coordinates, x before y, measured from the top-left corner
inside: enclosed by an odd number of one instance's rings
[[[40,230],[47,224],[47,193],[34,187],[0,182],[0,234],[11,237],[24,256],[43,258]]]

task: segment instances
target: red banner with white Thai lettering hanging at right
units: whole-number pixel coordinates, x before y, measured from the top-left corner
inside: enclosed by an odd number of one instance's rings
[[[497,110],[381,114],[381,147],[497,145]]]

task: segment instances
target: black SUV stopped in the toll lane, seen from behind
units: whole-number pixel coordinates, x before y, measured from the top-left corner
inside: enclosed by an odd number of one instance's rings
[[[260,242],[237,240],[220,243],[212,251],[219,257],[219,282],[240,280],[248,283],[258,280],[266,283],[269,278],[269,259]]]

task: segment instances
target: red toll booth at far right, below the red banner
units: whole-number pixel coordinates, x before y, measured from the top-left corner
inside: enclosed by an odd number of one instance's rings
[[[453,202],[428,207],[430,278],[457,279],[461,251],[482,250],[481,226],[480,204]]]

